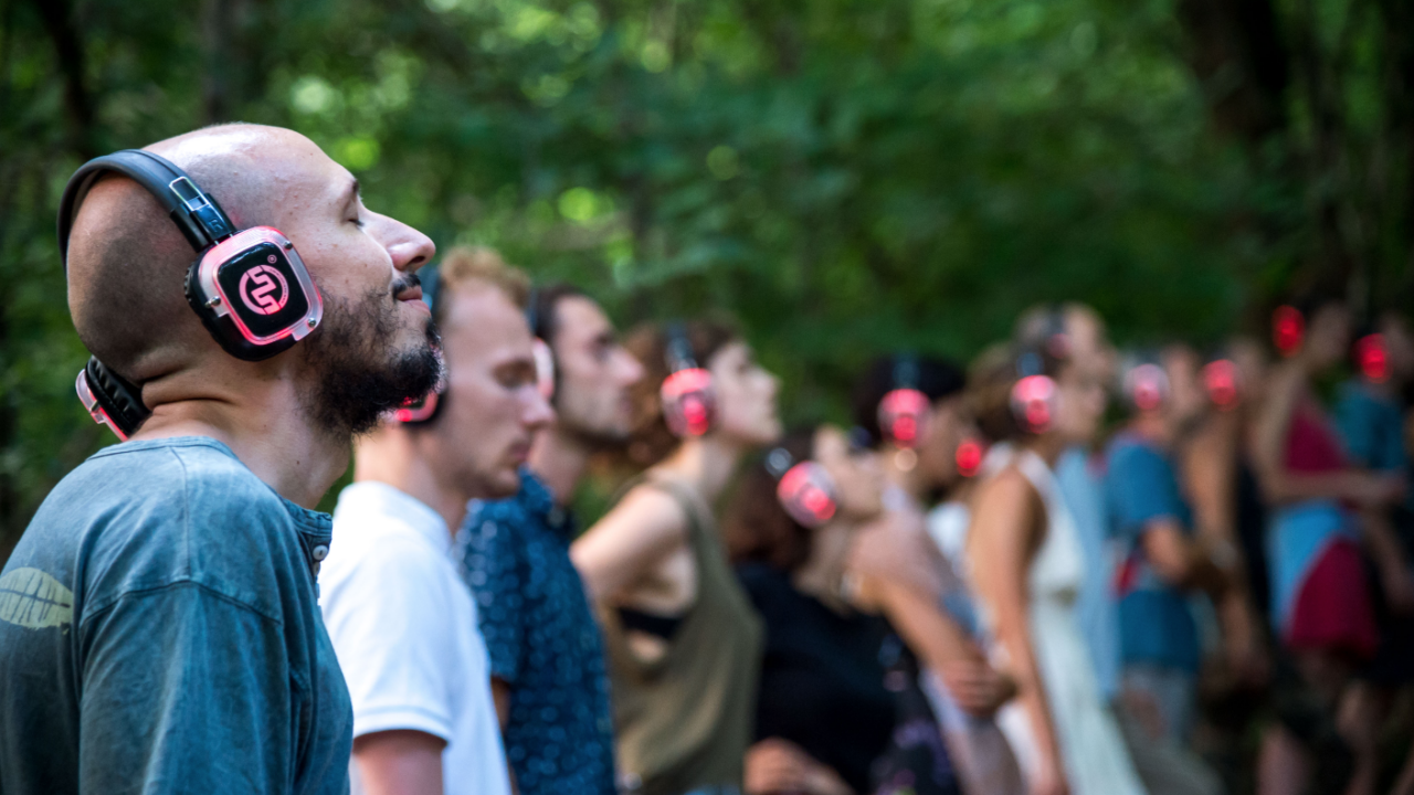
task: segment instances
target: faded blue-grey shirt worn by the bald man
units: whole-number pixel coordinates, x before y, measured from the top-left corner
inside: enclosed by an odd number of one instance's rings
[[[0,795],[348,792],[329,538],[212,439],[69,472],[0,573]]]

